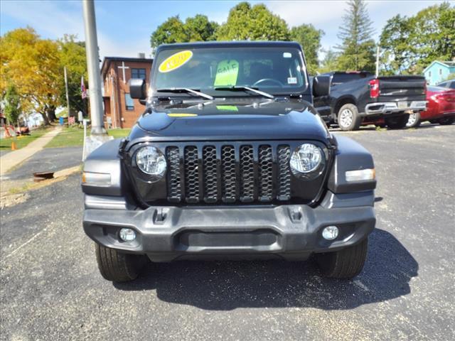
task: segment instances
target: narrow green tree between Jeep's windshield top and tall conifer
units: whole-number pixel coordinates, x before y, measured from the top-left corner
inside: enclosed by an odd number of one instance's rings
[[[314,28],[311,24],[302,24],[291,28],[291,40],[300,43],[304,49],[306,67],[311,75],[316,73],[319,67],[318,53],[321,50],[321,38],[324,31]]]

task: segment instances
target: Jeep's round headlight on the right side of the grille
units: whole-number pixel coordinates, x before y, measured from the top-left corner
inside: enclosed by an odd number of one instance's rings
[[[302,144],[291,155],[289,165],[291,170],[297,174],[304,175],[317,171],[323,166],[323,151],[314,144]]]

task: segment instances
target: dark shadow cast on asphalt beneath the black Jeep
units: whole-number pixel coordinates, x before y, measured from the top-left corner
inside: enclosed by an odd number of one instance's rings
[[[353,281],[321,277],[314,261],[176,261],[150,264],[119,290],[156,290],[162,301],[205,310],[311,307],[343,310],[410,293],[419,266],[389,232],[370,235],[365,268]]]

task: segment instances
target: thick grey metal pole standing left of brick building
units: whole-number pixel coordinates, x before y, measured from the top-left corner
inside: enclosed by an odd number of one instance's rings
[[[92,119],[91,134],[106,135],[102,119],[100,57],[98,55],[97,26],[95,21],[95,4],[93,3],[93,0],[82,0],[82,10],[84,12],[90,117]]]

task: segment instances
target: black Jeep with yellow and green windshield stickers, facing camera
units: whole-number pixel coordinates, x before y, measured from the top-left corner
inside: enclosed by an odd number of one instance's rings
[[[297,43],[161,45],[127,139],[84,164],[83,226],[102,276],[136,278],[146,259],[316,256],[323,274],[363,269],[375,227],[375,169],[312,106]],[[148,93],[148,94],[147,94]]]

